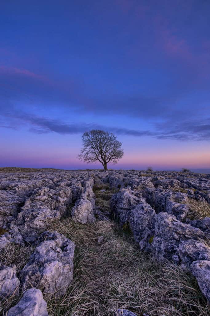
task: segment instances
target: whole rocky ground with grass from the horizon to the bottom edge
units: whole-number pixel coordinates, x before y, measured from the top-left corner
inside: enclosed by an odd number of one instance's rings
[[[209,216],[206,174],[1,169],[0,313],[207,316]]]

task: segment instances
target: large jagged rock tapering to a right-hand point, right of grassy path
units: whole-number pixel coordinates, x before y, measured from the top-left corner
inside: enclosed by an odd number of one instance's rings
[[[203,237],[204,233],[200,229],[178,221],[171,214],[161,212],[155,216],[155,236],[151,243],[152,252],[160,261],[168,259],[179,262],[176,255],[179,243],[183,240],[197,240]]]

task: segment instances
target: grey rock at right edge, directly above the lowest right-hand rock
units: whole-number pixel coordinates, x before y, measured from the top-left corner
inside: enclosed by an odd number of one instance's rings
[[[210,248],[196,240],[180,242],[178,254],[181,260],[181,267],[187,270],[189,270],[193,261],[210,260]]]

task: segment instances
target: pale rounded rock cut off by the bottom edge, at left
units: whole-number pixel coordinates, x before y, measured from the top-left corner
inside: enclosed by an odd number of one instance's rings
[[[48,316],[42,292],[34,288],[27,290],[20,301],[9,309],[7,316]]]

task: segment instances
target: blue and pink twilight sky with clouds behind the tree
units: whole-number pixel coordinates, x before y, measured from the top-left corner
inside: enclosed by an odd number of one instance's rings
[[[0,167],[100,168],[84,131],[113,132],[110,168],[210,170],[208,0],[1,1]]]

